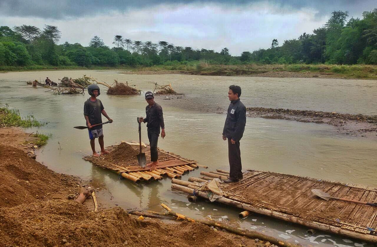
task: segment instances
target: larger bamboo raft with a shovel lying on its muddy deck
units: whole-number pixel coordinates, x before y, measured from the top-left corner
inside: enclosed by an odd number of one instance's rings
[[[205,192],[197,190],[198,183],[214,178],[227,179],[229,172],[217,169],[201,172],[201,175],[199,178],[190,177],[189,181],[173,179],[172,188],[189,193],[190,201],[197,196],[208,198]],[[320,189],[333,197],[376,202],[377,188],[250,170],[236,183],[222,183],[221,189],[224,195],[216,200],[219,203],[310,229],[377,243],[377,207],[338,200],[326,201],[311,192],[311,189]]]

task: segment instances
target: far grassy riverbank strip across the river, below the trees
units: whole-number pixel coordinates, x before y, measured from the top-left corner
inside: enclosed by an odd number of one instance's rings
[[[123,74],[160,75],[189,74],[212,76],[264,76],[290,78],[377,79],[377,66],[327,64],[240,64],[217,65],[204,62],[152,67],[138,67]]]

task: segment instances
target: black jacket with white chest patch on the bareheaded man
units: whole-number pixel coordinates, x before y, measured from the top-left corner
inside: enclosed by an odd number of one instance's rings
[[[246,107],[237,99],[231,101],[228,107],[227,119],[225,120],[222,134],[234,141],[241,140],[246,125]]]

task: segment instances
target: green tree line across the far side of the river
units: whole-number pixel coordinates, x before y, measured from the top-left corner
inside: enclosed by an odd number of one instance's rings
[[[212,64],[377,64],[377,9],[364,12],[362,19],[349,18],[348,12],[334,11],[332,17],[313,34],[285,40],[274,39],[269,49],[231,56],[221,51],[175,46],[167,41],[132,41],[115,35],[113,47],[95,36],[88,46],[65,42],[57,44],[57,26],[22,25],[0,27],[0,66],[153,66],[205,60]],[[348,20],[348,21],[347,21]]]

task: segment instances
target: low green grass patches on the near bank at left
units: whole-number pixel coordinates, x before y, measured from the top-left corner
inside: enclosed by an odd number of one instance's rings
[[[0,106],[0,127],[41,127],[47,123],[41,123],[34,116],[28,115],[26,117],[21,117],[20,110],[10,109],[9,105]],[[50,135],[37,133],[33,135],[38,137],[34,142],[35,145],[43,146],[46,145],[47,140],[51,137]]]

